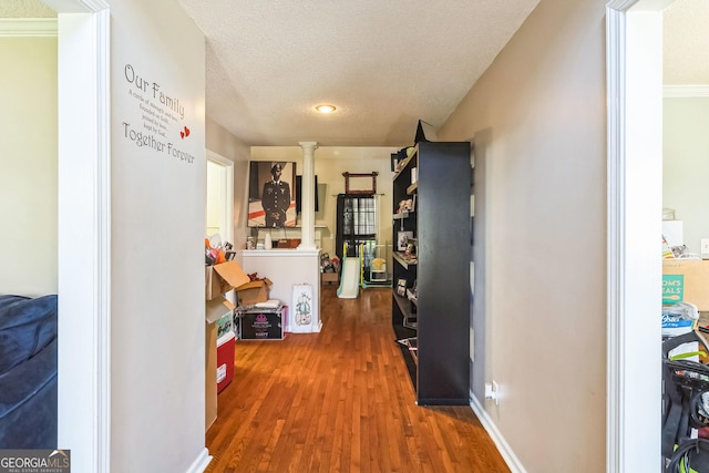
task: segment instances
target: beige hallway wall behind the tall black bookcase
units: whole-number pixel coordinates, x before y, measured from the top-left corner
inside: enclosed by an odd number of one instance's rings
[[[605,471],[605,3],[542,0],[438,133],[484,191],[473,391],[530,472]]]

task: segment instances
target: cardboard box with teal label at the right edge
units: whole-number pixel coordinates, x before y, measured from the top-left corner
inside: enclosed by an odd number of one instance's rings
[[[709,261],[700,259],[662,260],[662,304],[691,302],[709,310]]]

